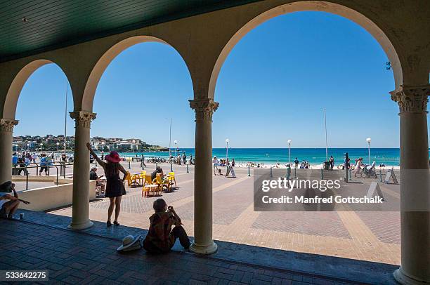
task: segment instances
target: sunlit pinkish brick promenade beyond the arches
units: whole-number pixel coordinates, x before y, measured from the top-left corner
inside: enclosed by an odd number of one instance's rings
[[[128,168],[128,164],[124,164]],[[170,165],[162,164],[164,172]],[[193,167],[173,166],[178,189],[163,193],[183,219],[185,230],[193,236]],[[148,173],[155,168],[148,164]],[[130,172],[140,172],[139,164]],[[98,170],[103,173],[102,169]],[[225,171],[223,171],[225,172]],[[214,192],[214,239],[300,253],[315,253],[379,263],[400,264],[400,215],[398,212],[254,212],[253,178],[247,168],[236,168],[237,178],[216,175]],[[385,195],[398,196],[398,185],[382,186]],[[141,187],[127,189],[122,199],[119,223],[148,229],[152,202],[143,198]],[[107,199],[91,201],[90,218],[105,223]],[[52,211],[71,216],[72,208]]]

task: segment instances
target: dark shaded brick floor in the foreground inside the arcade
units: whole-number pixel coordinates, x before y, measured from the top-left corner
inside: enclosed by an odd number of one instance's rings
[[[116,240],[15,220],[1,220],[0,239],[0,270],[48,270],[49,284],[348,284],[190,253],[117,253]]]

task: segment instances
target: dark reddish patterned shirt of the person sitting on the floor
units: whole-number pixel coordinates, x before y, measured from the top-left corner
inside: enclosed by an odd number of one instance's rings
[[[173,213],[157,212],[150,217],[150,228],[145,238],[145,245],[155,247],[159,251],[167,252],[174,246],[174,236],[171,235],[171,227],[181,225]]]

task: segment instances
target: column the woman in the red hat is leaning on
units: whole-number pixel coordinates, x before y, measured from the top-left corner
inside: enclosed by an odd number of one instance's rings
[[[73,199],[72,230],[84,230],[93,225],[89,220],[89,150],[91,121],[96,114],[91,112],[70,112],[74,119],[74,164],[73,164]]]

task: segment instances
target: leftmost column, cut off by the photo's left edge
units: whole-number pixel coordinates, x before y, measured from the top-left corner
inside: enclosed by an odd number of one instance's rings
[[[13,127],[18,121],[0,119],[0,184],[12,180]]]

